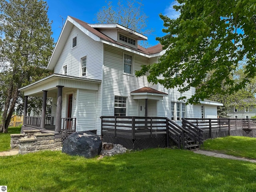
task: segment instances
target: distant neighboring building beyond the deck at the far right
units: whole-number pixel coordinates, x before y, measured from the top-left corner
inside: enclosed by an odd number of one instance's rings
[[[256,99],[247,99],[244,100],[246,102],[246,107],[238,108],[236,104],[233,104],[228,109],[228,116],[231,119],[250,119],[252,116],[256,116]]]

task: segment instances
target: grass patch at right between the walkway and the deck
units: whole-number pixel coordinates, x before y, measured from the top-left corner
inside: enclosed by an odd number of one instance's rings
[[[256,138],[227,136],[204,141],[204,150],[216,150],[220,153],[256,159]]]

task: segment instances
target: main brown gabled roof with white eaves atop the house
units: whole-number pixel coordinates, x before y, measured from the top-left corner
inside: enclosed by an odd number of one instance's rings
[[[88,35],[90,38],[92,38],[95,41],[102,42],[105,44],[109,44],[111,46],[115,46],[118,48],[121,48],[123,50],[127,50],[130,52],[133,52],[135,54],[140,54],[142,56],[146,56],[148,58],[158,56],[160,54],[163,54],[162,45],[158,44],[156,46],[152,46],[150,48],[143,48],[142,46],[138,45],[138,49],[132,48],[130,46],[127,46],[125,44],[119,43],[112,38],[106,36],[102,32],[98,31],[96,28],[103,28],[104,26],[108,26],[110,28],[119,28],[121,30],[125,30],[127,32],[131,32],[132,34],[136,35],[138,39],[147,39],[146,36],[139,34],[133,30],[130,30],[128,28],[125,28],[119,24],[88,24],[82,20],[79,20],[77,18],[68,16],[66,19],[66,22],[64,24],[64,27],[62,28],[62,31],[60,33],[60,36],[58,38],[58,41],[56,43],[56,46],[54,48],[54,51],[52,53],[52,56],[50,58],[50,61],[48,63],[47,69],[53,70],[55,64],[58,62],[58,58],[60,57],[60,54],[66,44],[66,41],[68,40],[68,37],[70,35],[70,32],[73,28],[73,26],[76,26],[79,28],[84,34]],[[93,28],[92,26],[95,26]]]

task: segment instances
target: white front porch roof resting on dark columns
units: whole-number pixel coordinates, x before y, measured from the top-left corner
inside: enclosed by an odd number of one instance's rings
[[[51,74],[50,76],[20,88],[19,91],[24,92],[25,96],[42,97],[43,90],[47,90],[47,96],[54,97],[57,94],[56,86],[98,90],[98,84],[101,84],[101,82],[101,80],[86,79],[62,74]]]

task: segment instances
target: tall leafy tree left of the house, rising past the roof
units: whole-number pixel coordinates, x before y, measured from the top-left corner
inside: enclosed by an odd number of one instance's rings
[[[4,81],[4,109],[0,132],[7,132],[19,88],[48,74],[53,50],[48,6],[43,0],[0,0],[0,69]]]

